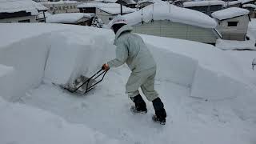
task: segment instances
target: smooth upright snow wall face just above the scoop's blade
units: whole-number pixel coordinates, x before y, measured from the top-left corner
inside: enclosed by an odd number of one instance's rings
[[[55,42],[51,45],[46,62],[44,82],[67,84],[74,82],[88,67],[91,46]],[[87,60],[87,61],[86,61]]]

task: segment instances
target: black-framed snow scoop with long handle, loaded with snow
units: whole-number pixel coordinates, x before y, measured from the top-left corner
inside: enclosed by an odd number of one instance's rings
[[[55,83],[53,84],[60,86],[64,90],[68,90],[70,93],[86,94],[90,90],[94,89],[94,86],[96,86],[99,82],[102,82],[107,71],[108,70],[104,70],[104,68],[102,67],[101,70],[98,70],[98,72],[93,76],[91,76],[90,78],[87,78],[81,75],[79,78],[77,78],[74,81],[73,83],[74,86],[58,85]],[[99,78],[100,76],[102,76],[102,78],[99,81],[96,81],[96,79]]]

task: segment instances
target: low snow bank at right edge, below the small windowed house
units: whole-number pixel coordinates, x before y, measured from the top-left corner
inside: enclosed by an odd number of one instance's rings
[[[256,50],[255,41],[230,41],[218,39],[216,47],[222,50]]]

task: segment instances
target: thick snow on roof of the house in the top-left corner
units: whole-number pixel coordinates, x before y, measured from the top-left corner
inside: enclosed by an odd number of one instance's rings
[[[26,11],[32,15],[38,15],[38,11],[48,10],[38,2],[32,0],[0,0],[0,13],[14,13]]]

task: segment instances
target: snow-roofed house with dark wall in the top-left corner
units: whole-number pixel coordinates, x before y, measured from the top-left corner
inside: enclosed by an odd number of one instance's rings
[[[47,8],[32,0],[0,0],[0,22],[36,22],[39,12]]]

